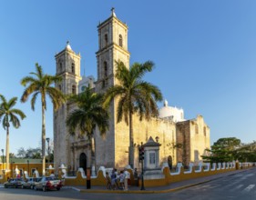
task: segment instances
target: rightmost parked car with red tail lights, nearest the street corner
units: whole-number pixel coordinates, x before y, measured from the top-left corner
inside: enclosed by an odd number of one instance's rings
[[[35,183],[34,189],[41,189],[44,192],[46,192],[46,190],[60,190],[61,187],[62,182],[60,180],[56,179],[55,177],[46,176],[42,177],[42,179],[39,182]]]

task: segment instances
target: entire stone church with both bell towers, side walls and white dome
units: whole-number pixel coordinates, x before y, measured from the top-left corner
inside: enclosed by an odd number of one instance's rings
[[[85,85],[94,87],[97,93],[104,93],[109,86],[118,85],[115,78],[116,64],[120,60],[129,66],[128,25],[118,19],[114,10],[110,17],[97,25],[98,51],[97,81],[92,76],[80,75],[80,54],[75,53],[67,43],[66,48],[56,54],[56,75],[62,76],[62,82],[56,85],[64,94],[78,94]],[[92,141],[93,154],[85,135],[72,136],[66,126],[67,115],[76,108],[69,103],[54,113],[54,155],[55,165],[64,164],[69,171],[78,167],[98,168],[124,167],[128,165],[128,125],[117,123],[117,101],[109,108],[109,130],[103,137],[95,130]],[[167,162],[169,156],[173,164],[199,162],[200,155],[210,148],[210,128],[202,116],[185,120],[182,109],[170,107],[167,101],[159,110],[159,117],[150,121],[139,121],[133,117],[134,128],[134,167],[138,167],[138,145],[147,143],[151,136],[159,142],[159,162]],[[181,147],[177,148],[177,144]],[[95,158],[95,159],[94,159]]]

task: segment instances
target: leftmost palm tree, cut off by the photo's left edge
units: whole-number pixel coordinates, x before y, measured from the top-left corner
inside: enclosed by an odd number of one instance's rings
[[[0,99],[0,120],[2,120],[4,129],[6,129],[6,169],[9,169],[9,127],[12,124],[15,128],[18,128],[20,126],[19,117],[23,120],[26,115],[21,110],[14,108],[17,97],[6,101],[5,96],[0,95]]]

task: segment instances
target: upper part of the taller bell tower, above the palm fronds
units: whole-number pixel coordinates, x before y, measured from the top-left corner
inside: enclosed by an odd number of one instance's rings
[[[111,9],[110,17],[97,25],[97,92],[105,91],[109,86],[116,85],[116,61],[129,66],[128,25],[121,22]]]

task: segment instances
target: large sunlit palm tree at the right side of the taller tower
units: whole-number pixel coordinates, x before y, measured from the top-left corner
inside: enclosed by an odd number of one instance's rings
[[[113,99],[118,97],[118,123],[124,117],[126,124],[129,125],[128,163],[133,167],[133,115],[137,113],[140,121],[143,118],[149,120],[152,116],[158,116],[157,102],[162,101],[162,95],[157,86],[142,80],[143,75],[152,71],[153,62],[135,63],[131,65],[130,69],[120,61],[116,62],[116,65],[115,77],[119,84],[108,88],[103,105],[107,107]]]

